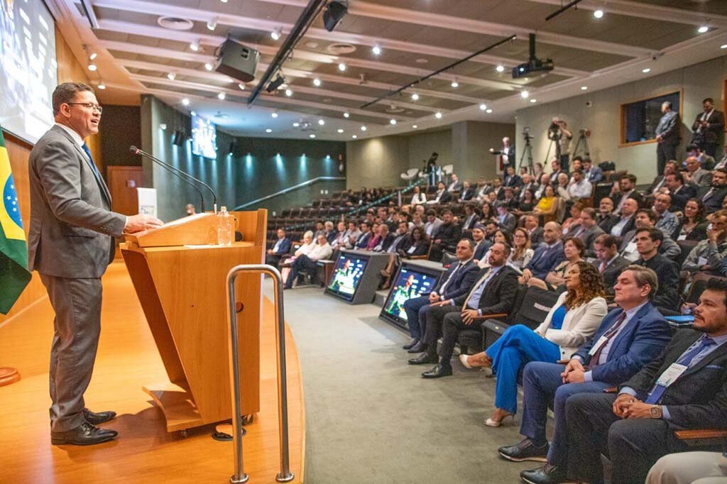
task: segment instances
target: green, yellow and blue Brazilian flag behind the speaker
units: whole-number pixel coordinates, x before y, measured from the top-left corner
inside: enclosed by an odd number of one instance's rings
[[[31,280],[31,273],[28,272],[28,246],[20,220],[20,205],[1,129],[0,193],[0,312],[7,314]]]

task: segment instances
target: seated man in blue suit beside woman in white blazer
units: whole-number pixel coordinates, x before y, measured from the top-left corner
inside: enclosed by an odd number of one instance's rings
[[[648,300],[658,282],[653,271],[630,266],[616,284],[616,304],[598,331],[567,365],[528,363],[523,371],[523,422],[520,443],[499,449],[512,461],[546,458],[545,467],[521,472],[529,483],[561,483],[569,463],[566,405],[571,395],[602,394],[634,376],[656,358],[669,342],[664,316]],[[545,438],[547,409],[553,406],[555,433]],[[570,423],[570,422],[568,422]]]

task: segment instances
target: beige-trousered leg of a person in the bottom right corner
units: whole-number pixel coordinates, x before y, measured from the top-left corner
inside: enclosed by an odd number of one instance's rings
[[[662,457],[648,471],[646,484],[727,483],[726,452],[675,452]]]

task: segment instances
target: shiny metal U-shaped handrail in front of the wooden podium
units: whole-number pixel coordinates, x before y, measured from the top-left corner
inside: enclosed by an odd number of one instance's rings
[[[278,483],[287,483],[293,480],[294,474],[290,471],[290,456],[288,449],[288,388],[285,366],[285,319],[283,311],[283,278],[278,270],[265,264],[236,265],[227,275],[228,285],[228,318],[230,319],[230,379],[233,387],[233,446],[235,453],[235,473],[230,477],[230,483],[246,483],[246,475],[242,466],[242,408],[240,403],[240,366],[238,355],[237,334],[237,304],[235,300],[235,280],[238,273],[268,274],[275,282],[275,315],[278,320],[276,331],[276,353],[278,356],[278,427],[280,436],[280,472],[275,480]]]

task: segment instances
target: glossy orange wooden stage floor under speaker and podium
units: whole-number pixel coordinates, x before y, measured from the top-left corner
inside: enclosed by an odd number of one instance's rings
[[[103,278],[101,339],[87,407],[119,416],[104,424],[119,431],[108,443],[50,444],[49,347],[53,313],[47,298],[0,326],[0,366],[23,379],[0,387],[0,483],[227,483],[231,442],[212,440],[214,428],[169,434],[164,416],[142,392],[166,373],[123,262]],[[222,290],[222,289],[221,289]],[[273,304],[264,299],[260,330],[260,414],[246,427],[244,469],[249,483],[274,483],[279,471],[278,406]],[[290,465],[302,482],[305,408],[300,364],[290,331],[288,363]]]

